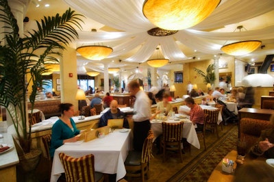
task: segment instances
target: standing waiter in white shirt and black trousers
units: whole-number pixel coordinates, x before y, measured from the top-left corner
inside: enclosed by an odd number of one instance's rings
[[[149,118],[151,116],[151,104],[149,97],[144,91],[140,90],[140,85],[137,81],[130,81],[128,84],[129,92],[136,97],[134,102],[134,150],[142,151],[142,144],[147,138],[147,133],[151,127]]]

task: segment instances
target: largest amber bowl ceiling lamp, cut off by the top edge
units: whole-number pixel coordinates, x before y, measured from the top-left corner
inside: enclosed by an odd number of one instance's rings
[[[221,0],[146,0],[142,13],[162,29],[179,30],[197,25],[208,17]]]

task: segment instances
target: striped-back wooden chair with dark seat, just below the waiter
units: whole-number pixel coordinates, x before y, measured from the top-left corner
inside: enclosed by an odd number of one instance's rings
[[[149,159],[152,156],[153,131],[150,130],[144,144],[142,145],[142,152],[129,151],[127,159],[125,159],[125,170],[127,170],[126,177],[142,177],[145,181],[145,174],[149,172]]]

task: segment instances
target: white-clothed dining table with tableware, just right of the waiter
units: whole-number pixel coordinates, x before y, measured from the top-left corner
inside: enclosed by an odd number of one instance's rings
[[[177,123],[177,122],[184,122],[183,125],[183,138],[186,138],[186,141],[192,146],[200,149],[200,143],[195,131],[195,125],[188,119],[188,116],[184,114],[175,114],[175,118],[168,118],[167,120],[158,120],[153,119],[151,122],[151,129],[154,134],[153,141],[158,138],[159,135],[162,134],[162,122],[170,122],[170,123]]]

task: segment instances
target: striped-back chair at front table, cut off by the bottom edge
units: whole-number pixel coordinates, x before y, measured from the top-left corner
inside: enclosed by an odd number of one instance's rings
[[[104,177],[101,172],[95,172],[94,155],[85,155],[74,158],[64,153],[59,154],[61,163],[64,167],[66,181],[103,181]]]

